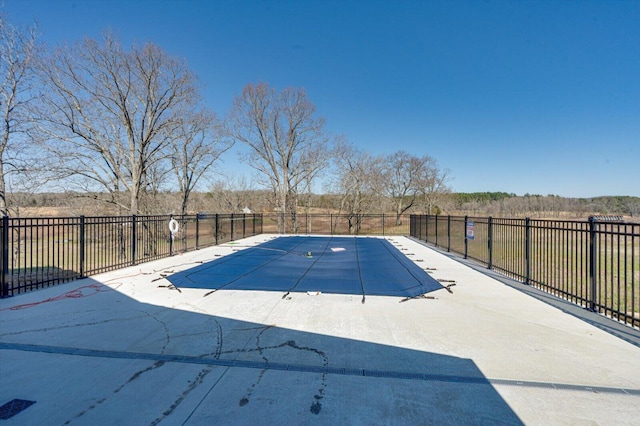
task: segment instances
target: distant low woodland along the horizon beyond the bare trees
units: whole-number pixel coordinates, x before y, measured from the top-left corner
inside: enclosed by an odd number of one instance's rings
[[[431,208],[431,214],[452,216],[530,217],[542,219],[586,220],[590,215],[624,216],[627,221],[640,220],[640,197],[604,196],[594,198],[569,198],[557,195],[515,195],[491,197],[486,192],[444,193]],[[103,216],[118,214],[105,210],[105,206],[91,201],[90,197],[76,197],[73,193],[15,193],[19,213],[23,216]],[[248,189],[243,179],[217,181],[207,191],[195,191],[190,198],[188,213],[257,213],[274,212],[271,192],[266,189]],[[366,214],[395,214],[394,203],[384,197],[378,203],[368,204],[360,214],[350,214],[344,207],[344,194],[312,193],[300,200],[299,214],[346,214],[353,230]],[[408,201],[408,200],[407,200]],[[166,214],[179,204],[178,192],[165,191],[158,199],[154,213]],[[364,206],[363,206],[364,207]],[[429,205],[420,197],[405,214],[427,213]]]

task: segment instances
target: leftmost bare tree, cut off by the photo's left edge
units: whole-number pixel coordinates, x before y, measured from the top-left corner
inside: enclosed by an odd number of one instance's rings
[[[35,76],[37,55],[35,26],[27,29],[14,27],[0,14],[0,214],[9,214],[7,202],[7,180],[19,179],[29,172],[29,158],[34,158],[33,149],[28,149],[27,135],[30,124],[32,83]],[[32,162],[33,163],[33,162]],[[29,179],[23,179],[29,182]]]

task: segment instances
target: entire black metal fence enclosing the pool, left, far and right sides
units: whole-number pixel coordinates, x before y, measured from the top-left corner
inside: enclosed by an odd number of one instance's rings
[[[640,328],[640,224],[411,215],[3,217],[0,297],[261,233],[411,235]],[[613,219],[613,221],[612,221]]]

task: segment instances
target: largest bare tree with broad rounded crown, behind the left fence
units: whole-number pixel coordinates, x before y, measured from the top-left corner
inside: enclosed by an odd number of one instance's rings
[[[152,43],[126,50],[110,34],[60,47],[42,74],[47,147],[85,190],[106,190],[108,201],[138,213],[151,169],[200,101],[195,76]]]

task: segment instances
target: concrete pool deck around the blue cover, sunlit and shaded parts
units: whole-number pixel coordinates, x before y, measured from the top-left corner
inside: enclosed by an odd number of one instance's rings
[[[0,405],[35,401],[0,424],[638,423],[640,332],[409,238],[387,239],[451,292],[363,304],[164,278],[269,238],[0,300]]]

